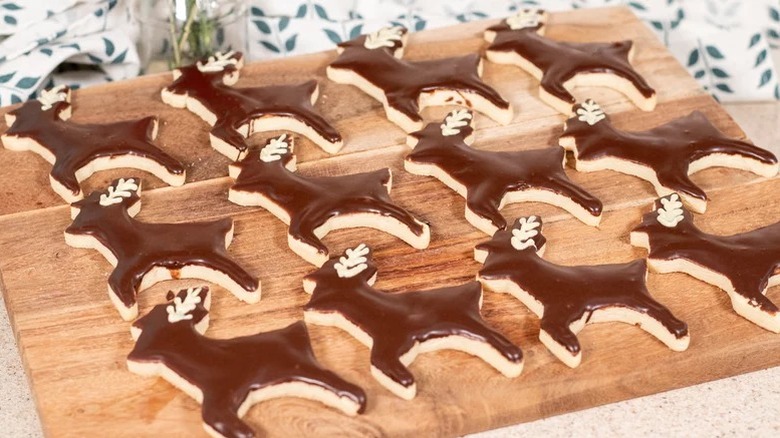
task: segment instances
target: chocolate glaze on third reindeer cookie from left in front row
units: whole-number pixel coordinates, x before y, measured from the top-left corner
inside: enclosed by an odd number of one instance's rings
[[[580,343],[569,326],[583,317],[587,323],[599,309],[624,307],[660,322],[677,339],[688,334],[688,326],[650,296],[645,285],[647,264],[644,259],[629,263],[594,266],[561,266],[542,259],[536,248],[543,248],[546,239],[541,234],[532,237],[535,243],[517,250],[511,243],[513,229],[520,229],[520,219],[508,230],[496,232],[493,238],[477,245],[487,251],[480,281],[509,280],[530,294],[544,307],[541,330],[572,353],[580,351]]]

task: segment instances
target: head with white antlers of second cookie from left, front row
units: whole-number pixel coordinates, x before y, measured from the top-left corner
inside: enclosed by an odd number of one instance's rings
[[[374,284],[376,281],[376,265],[373,262],[371,248],[365,243],[354,248],[347,248],[344,254],[328,260],[321,268],[303,279],[304,290],[312,293],[320,282],[328,284]]]

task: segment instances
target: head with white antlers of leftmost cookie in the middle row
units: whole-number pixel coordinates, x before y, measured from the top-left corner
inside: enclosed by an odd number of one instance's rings
[[[105,190],[92,192],[86,198],[71,204],[71,217],[74,219],[71,228],[87,225],[93,220],[99,221],[106,214],[121,214],[121,211],[126,211],[130,216],[135,216],[140,210],[141,180],[119,178]]]

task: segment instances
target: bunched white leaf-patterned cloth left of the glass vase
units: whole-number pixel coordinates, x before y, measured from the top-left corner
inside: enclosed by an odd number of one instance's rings
[[[138,55],[117,0],[0,0],[0,105],[42,88],[79,88],[133,77]],[[98,69],[58,72],[63,63]]]

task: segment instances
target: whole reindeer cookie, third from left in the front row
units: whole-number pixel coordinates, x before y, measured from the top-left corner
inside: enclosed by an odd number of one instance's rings
[[[541,318],[539,340],[570,367],[582,360],[579,333],[586,324],[618,321],[638,325],[674,351],[688,348],[688,326],[647,291],[644,259],[594,266],[561,266],[542,258],[546,239],[536,216],[477,245],[483,263],[477,279],[509,293]]]

